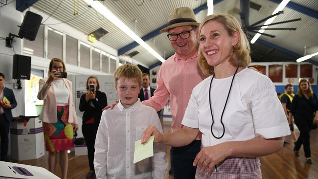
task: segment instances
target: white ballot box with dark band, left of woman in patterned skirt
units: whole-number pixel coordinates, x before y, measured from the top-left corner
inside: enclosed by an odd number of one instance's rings
[[[13,120],[10,127],[11,158],[29,160],[44,156],[42,121],[36,118]]]

